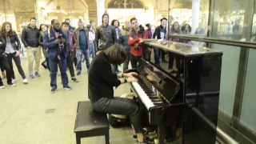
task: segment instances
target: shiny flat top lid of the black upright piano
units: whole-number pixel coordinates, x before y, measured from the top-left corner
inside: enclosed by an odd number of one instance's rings
[[[180,42],[172,42],[167,40],[147,39],[143,43],[149,46],[158,47],[185,57],[198,56],[205,54],[222,54],[221,51],[209,49],[206,47],[190,46]]]

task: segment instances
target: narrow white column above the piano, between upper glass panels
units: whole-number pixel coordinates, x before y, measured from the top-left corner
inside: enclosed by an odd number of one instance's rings
[[[198,28],[200,14],[200,0],[193,0],[192,2],[192,33]]]

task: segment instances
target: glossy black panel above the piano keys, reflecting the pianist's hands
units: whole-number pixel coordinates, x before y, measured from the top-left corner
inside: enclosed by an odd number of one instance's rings
[[[160,95],[167,103],[172,100],[178,94],[181,88],[180,82],[174,78],[170,78],[169,75],[159,70],[158,67],[152,65],[142,58],[141,65],[137,68],[138,77],[147,85],[153,86],[154,89],[158,90]]]

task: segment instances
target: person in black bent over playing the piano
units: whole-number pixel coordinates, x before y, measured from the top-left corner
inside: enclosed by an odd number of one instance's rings
[[[126,50],[118,44],[102,51],[93,59],[88,74],[88,96],[94,110],[106,114],[128,115],[137,135],[138,144],[144,144],[140,112],[136,102],[128,98],[114,97],[113,87],[122,83],[137,82],[134,72],[113,74],[111,65],[126,61]]]

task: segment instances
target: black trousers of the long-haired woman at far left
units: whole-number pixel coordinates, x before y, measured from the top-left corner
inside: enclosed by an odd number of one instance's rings
[[[25,73],[22,69],[22,63],[21,63],[21,58],[18,56],[15,56],[16,52],[13,54],[7,54],[7,59],[9,62],[9,66],[10,66],[10,73],[11,73],[11,78],[15,79],[15,75],[14,75],[14,66],[13,66],[13,61],[12,59],[14,59],[15,65],[18,68],[18,73],[21,74],[22,78],[25,79]]]

